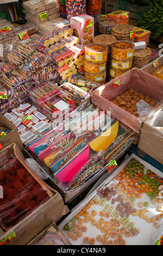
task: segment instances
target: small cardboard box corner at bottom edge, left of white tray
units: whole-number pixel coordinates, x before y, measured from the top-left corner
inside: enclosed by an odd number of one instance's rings
[[[56,237],[56,239],[60,240],[58,241],[58,243],[55,243],[55,237],[54,237],[54,241],[52,242],[51,239],[47,239],[45,241],[45,243],[40,242],[41,238],[43,236],[46,236],[46,234],[52,234],[52,236],[55,236],[56,234],[58,235]],[[53,235],[55,234],[55,235]],[[28,245],[36,245],[36,243],[39,242],[39,245],[72,245],[72,243],[67,239],[67,237],[60,231],[60,229],[57,227],[57,225],[55,223],[52,223],[51,225],[49,225],[49,227],[47,227],[45,230],[43,230],[39,235],[37,235],[32,241],[30,241],[28,243]]]

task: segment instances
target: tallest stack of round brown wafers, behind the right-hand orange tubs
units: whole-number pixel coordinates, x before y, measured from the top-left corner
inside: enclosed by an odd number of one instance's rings
[[[129,24],[117,24],[111,29],[111,34],[116,37],[117,40],[126,40],[134,42],[134,38],[130,38],[130,32],[135,31],[135,27]]]

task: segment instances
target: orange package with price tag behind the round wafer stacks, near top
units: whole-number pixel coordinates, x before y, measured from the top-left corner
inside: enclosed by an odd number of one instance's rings
[[[128,24],[129,11],[114,11],[113,13],[107,14],[107,18],[116,20],[117,24]]]

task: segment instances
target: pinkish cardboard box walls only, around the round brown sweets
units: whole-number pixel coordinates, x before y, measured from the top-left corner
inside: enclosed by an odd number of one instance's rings
[[[113,88],[113,84],[118,80],[120,80],[120,86]],[[151,117],[153,113],[163,106],[162,87],[163,81],[159,78],[141,69],[133,68],[96,89],[92,93],[92,102],[104,111],[110,111],[112,117],[121,121],[121,123],[127,125],[136,133],[139,133],[143,121],[147,120],[147,118]],[[151,96],[158,104],[152,108],[152,111],[147,112],[146,115],[136,117],[110,101],[128,88],[134,88],[147,96]]]

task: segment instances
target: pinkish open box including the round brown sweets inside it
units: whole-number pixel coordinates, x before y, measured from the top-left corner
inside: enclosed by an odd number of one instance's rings
[[[118,82],[120,82],[121,86],[116,86]],[[158,88],[157,90],[159,93],[153,92],[154,84],[155,84],[155,87]],[[122,107],[123,104],[119,106],[119,103],[117,104],[115,101],[116,96],[123,97],[122,93],[124,93],[126,90],[127,91],[130,90],[130,85],[131,85],[131,89],[134,89],[134,92],[136,90],[137,91],[136,93],[140,94],[140,96],[144,97],[144,99],[146,97],[145,100],[141,100],[139,96],[138,96],[139,98],[136,97],[137,102],[138,101],[139,102],[138,102],[138,105],[136,103],[137,105],[136,107],[133,107],[134,108],[133,111],[131,111],[130,109],[129,110],[127,109],[127,107],[130,106],[129,103],[120,102],[120,105],[121,103],[124,103],[124,105],[125,104],[127,105]],[[116,99],[120,100],[120,97]],[[131,95],[131,97],[133,97],[133,95]],[[114,99],[115,103],[111,102],[111,99],[112,100]],[[127,100],[130,100],[130,97],[129,98],[127,97]],[[150,106],[148,104],[151,100],[152,100],[151,105],[155,105],[155,106]],[[99,108],[105,111],[111,111],[112,117],[120,120],[123,124],[127,125],[131,129],[133,129],[135,132],[139,132],[142,122],[145,121],[148,117],[150,117],[154,112],[156,112],[156,110],[158,110],[161,107],[162,93],[160,90],[160,86],[158,86],[158,78],[152,77],[145,71],[142,71],[139,69],[131,69],[127,71],[125,74],[114,78],[114,80],[105,84],[105,86],[99,87],[97,90],[95,90],[92,93],[92,101]],[[135,101],[131,101],[130,103],[133,103],[133,102],[135,103]],[[143,105],[140,106],[142,102],[145,102],[144,106]],[[133,113],[136,113],[139,107],[141,107],[139,112],[140,116],[138,116],[137,114],[133,114]]]

